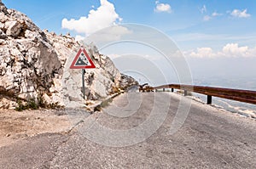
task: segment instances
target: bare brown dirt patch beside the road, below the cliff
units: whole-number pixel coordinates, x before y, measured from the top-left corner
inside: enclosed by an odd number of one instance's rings
[[[0,110],[0,147],[41,133],[67,132],[72,124],[63,112]]]

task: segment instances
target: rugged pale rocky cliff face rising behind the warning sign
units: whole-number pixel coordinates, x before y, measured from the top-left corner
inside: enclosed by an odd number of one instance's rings
[[[66,107],[84,106],[81,70],[70,70],[80,44],[73,37],[41,31],[32,20],[0,1],[0,109],[12,109],[16,99],[58,102]],[[86,45],[96,65],[86,70],[87,100],[99,100],[136,84],[120,74],[108,56]]]

